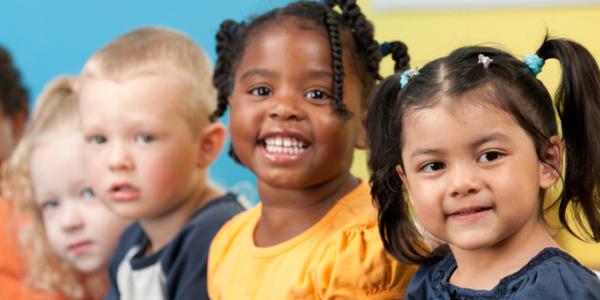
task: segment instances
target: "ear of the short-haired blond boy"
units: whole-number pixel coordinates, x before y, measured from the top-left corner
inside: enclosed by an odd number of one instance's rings
[[[220,122],[209,123],[200,132],[197,165],[207,168],[221,153],[225,144],[225,127]]]

